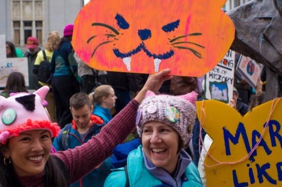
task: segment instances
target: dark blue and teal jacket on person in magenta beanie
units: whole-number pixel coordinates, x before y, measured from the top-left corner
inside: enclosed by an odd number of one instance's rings
[[[69,41],[65,41],[60,50],[54,50],[50,64],[50,72],[53,77],[71,76],[77,72],[77,66],[72,67],[69,62],[69,55],[73,54],[70,45]]]

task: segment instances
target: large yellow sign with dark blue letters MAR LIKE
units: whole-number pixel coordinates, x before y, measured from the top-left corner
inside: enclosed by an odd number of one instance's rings
[[[282,186],[282,99],[262,104],[244,116],[222,102],[203,102],[197,102],[196,107],[201,124],[213,139],[209,154],[219,162],[235,162],[214,166],[218,163],[207,155],[204,163],[213,166],[205,167],[207,186]],[[276,106],[263,135],[272,103]],[[236,163],[252,151],[260,137],[253,154]]]

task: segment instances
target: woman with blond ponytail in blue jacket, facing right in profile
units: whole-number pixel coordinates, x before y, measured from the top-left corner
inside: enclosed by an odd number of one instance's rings
[[[98,86],[89,98],[95,105],[93,114],[101,117],[104,123],[107,124],[113,117],[110,109],[115,106],[116,96],[114,89],[110,85]]]

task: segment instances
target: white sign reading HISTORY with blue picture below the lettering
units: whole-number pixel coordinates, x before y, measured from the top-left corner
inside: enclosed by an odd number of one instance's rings
[[[229,50],[221,62],[205,75],[205,98],[229,103],[233,97],[235,52]]]

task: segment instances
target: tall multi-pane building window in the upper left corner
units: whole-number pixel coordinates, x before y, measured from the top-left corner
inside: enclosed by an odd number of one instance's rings
[[[39,44],[44,42],[43,0],[11,0],[12,41],[24,46],[28,37],[36,37]]]

